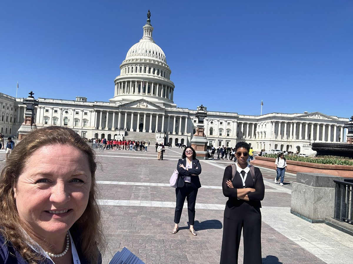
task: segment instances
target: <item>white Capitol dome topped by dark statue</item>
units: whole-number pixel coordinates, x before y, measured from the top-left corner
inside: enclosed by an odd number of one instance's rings
[[[174,83],[166,55],[152,38],[153,27],[148,13],[142,39],[127,52],[120,65],[120,75],[114,80],[111,102],[127,103],[140,99],[158,106],[176,107],[173,102]]]

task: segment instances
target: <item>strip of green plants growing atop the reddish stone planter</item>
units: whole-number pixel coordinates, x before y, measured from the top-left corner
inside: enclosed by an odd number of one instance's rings
[[[263,157],[277,158],[276,154],[265,154]],[[336,156],[319,156],[319,157],[299,157],[297,155],[286,155],[288,161],[301,161],[317,164],[331,164],[331,165],[349,165],[353,166],[353,159],[336,157]]]

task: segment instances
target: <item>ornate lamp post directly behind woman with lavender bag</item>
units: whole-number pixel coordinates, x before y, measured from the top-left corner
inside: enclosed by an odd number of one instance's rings
[[[196,151],[198,159],[208,159],[207,138],[204,133],[204,118],[207,117],[207,107],[203,105],[197,107],[196,118],[198,119],[196,133],[191,139],[191,146]]]

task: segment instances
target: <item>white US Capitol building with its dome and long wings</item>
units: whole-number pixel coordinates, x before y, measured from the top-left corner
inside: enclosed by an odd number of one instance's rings
[[[179,108],[173,101],[174,83],[166,55],[152,38],[150,13],[143,37],[127,52],[114,80],[109,102],[39,98],[37,127],[68,126],[84,138],[116,138],[190,144],[197,126],[196,110]],[[24,121],[23,99],[0,93],[0,130],[16,136]],[[195,106],[196,108],[196,106]],[[207,108],[205,108],[207,110]],[[344,142],[348,118],[323,113],[270,113],[239,115],[207,112],[204,119],[208,145],[234,147],[239,141],[255,151],[281,149],[311,154],[312,142]]]

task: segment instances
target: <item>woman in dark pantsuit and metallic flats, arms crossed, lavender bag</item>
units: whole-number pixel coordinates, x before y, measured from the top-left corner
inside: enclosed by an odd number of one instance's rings
[[[195,203],[197,191],[201,188],[199,175],[201,174],[201,164],[196,159],[196,151],[190,147],[185,147],[183,156],[178,161],[177,170],[179,172],[178,187],[175,189],[177,196],[177,205],[175,206],[174,214],[174,229],[173,234],[179,230],[179,222],[185,198],[187,201],[187,214],[189,215],[190,232],[192,235],[197,235],[194,229],[195,221]]]

